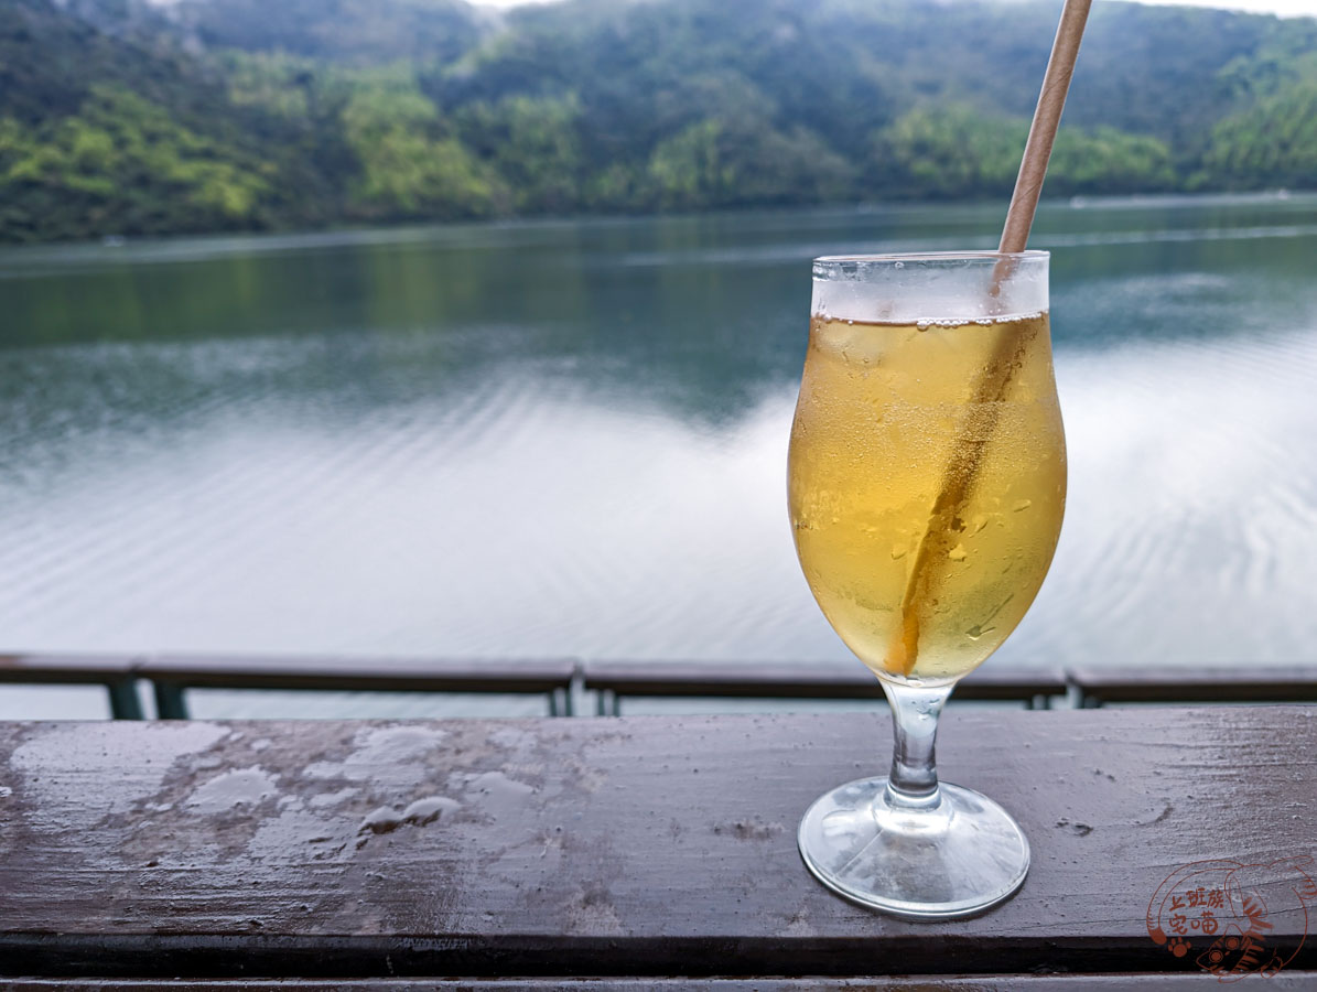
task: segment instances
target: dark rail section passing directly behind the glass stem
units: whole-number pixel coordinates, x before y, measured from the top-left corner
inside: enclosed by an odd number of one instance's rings
[[[586,661],[586,689],[622,696],[761,696],[765,698],[882,698],[882,685],[853,665],[718,664],[709,661]],[[956,698],[1022,700],[1062,696],[1060,668],[1010,669],[985,665],[957,686]]]

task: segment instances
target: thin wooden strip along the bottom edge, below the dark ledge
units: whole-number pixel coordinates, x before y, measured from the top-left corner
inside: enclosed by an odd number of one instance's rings
[[[1251,983],[1250,983],[1251,984]],[[0,984],[5,992],[1202,992],[1216,983],[1202,974],[1150,975],[972,975],[950,978],[802,978],[802,979],[275,979],[248,981],[36,979]],[[1314,971],[1281,971],[1268,992],[1317,988]]]

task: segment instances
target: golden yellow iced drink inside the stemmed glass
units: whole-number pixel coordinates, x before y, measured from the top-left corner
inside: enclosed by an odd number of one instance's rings
[[[801,566],[847,646],[888,677],[964,675],[1019,623],[1060,535],[1047,314],[814,317],[788,465]]]

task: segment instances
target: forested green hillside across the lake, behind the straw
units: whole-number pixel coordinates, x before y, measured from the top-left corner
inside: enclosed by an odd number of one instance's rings
[[[1004,196],[1058,4],[0,0],[0,240]],[[1317,187],[1317,20],[1098,4],[1047,194]]]

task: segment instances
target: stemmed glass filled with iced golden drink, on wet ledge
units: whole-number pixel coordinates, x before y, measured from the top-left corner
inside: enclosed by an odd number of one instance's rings
[[[886,777],[819,797],[801,855],[910,918],[981,912],[1029,871],[992,800],[938,781],[938,717],[1043,584],[1065,506],[1046,252],[819,258],[789,455],[801,568],[881,680]]]

